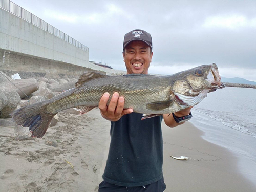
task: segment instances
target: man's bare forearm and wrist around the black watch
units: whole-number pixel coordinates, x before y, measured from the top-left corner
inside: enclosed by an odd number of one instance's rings
[[[190,106],[189,108],[187,109],[184,109],[184,110],[181,110],[179,112],[175,112],[174,115],[176,117],[183,117],[183,116],[186,116],[190,113],[190,110],[191,108],[193,108],[193,106]],[[164,119],[164,122],[167,126],[173,128],[173,127],[176,127],[180,124],[183,124],[185,122],[182,122],[182,123],[176,123],[176,121],[174,120],[174,117],[172,114],[163,114],[163,119]]]

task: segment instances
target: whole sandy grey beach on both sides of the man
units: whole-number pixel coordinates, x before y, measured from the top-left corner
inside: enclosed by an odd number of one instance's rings
[[[58,116],[42,139],[15,141],[14,129],[0,126],[0,191],[98,191],[110,122],[98,109]],[[203,134],[189,122],[174,129],[163,123],[165,191],[255,191],[239,173],[237,157]]]

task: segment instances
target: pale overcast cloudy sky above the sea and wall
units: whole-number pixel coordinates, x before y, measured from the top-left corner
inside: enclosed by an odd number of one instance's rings
[[[89,60],[125,70],[124,34],[152,35],[149,73],[215,62],[221,76],[256,81],[256,1],[13,0],[89,47]]]

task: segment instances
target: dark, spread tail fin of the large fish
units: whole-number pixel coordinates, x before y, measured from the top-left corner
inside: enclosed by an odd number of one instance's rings
[[[32,137],[42,138],[45,135],[48,126],[56,114],[45,113],[46,105],[35,103],[15,110],[12,115],[12,121],[18,125],[29,127]]]

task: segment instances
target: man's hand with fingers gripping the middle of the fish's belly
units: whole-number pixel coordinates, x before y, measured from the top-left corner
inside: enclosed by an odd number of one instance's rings
[[[133,109],[123,109],[124,98],[119,97],[119,94],[115,92],[111,98],[109,106],[108,103],[110,94],[104,93],[99,101],[99,109],[103,118],[110,121],[118,121],[123,115],[133,112]]]

